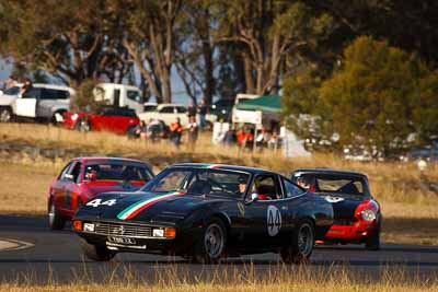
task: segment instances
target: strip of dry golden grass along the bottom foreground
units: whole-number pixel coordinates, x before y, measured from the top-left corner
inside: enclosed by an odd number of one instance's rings
[[[187,276],[184,276],[187,275]],[[384,268],[380,278],[348,271],[347,267],[312,268],[274,266],[260,277],[253,265],[221,269],[203,278],[189,275],[189,270],[170,266],[169,269],[148,277],[138,277],[129,268],[118,276],[108,272],[101,283],[89,278],[76,279],[69,284],[59,284],[49,279],[35,285],[32,279],[18,279],[15,283],[0,284],[1,291],[205,291],[205,292],[260,292],[260,291],[437,291],[437,278],[405,277],[402,268]]]

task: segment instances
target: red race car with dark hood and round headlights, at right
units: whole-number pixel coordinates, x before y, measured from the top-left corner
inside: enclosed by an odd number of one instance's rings
[[[334,224],[325,234],[324,242],[365,243],[369,250],[380,249],[382,214],[365,174],[302,168],[292,172],[291,179],[332,203]]]

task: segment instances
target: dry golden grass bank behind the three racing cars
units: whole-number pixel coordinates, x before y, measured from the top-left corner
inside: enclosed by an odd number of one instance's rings
[[[155,172],[175,162],[210,162],[265,167],[285,174],[298,167],[332,167],[365,172],[385,218],[383,240],[438,244],[438,194],[428,185],[438,182],[437,166],[419,173],[412,163],[360,163],[318,153],[311,159],[285,159],[273,151],[252,152],[212,145],[203,135],[195,151],[176,149],[169,141],[146,143],[107,132],[81,133],[42,125],[1,124],[0,142],[39,148],[62,148],[78,154],[123,155],[148,161]],[[53,177],[67,159],[48,160],[26,153],[0,151],[0,212],[45,213]]]

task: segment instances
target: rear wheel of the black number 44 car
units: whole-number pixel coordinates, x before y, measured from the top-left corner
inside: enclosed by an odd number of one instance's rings
[[[315,243],[314,227],[310,220],[303,220],[291,234],[289,246],[281,249],[281,260],[287,264],[307,264]]]

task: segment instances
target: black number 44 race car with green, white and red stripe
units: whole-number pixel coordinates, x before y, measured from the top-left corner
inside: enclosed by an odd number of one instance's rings
[[[332,223],[331,203],[276,173],[192,163],[165,168],[140,191],[101,194],[77,212],[73,230],[94,260],[138,252],[216,262],[277,252],[299,262]]]

